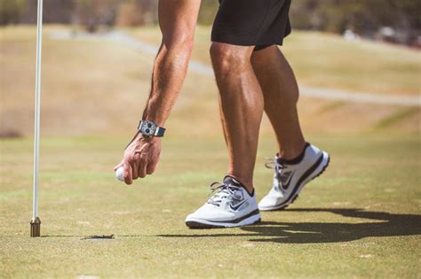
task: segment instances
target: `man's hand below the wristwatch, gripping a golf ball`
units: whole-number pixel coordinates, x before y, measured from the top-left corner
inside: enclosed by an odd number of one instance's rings
[[[155,172],[160,154],[160,138],[145,138],[139,134],[127,146],[122,162],[115,166],[114,170],[123,166],[124,182],[130,185],[133,180]]]

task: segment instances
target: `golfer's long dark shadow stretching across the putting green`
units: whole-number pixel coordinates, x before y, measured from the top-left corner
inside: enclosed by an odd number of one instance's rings
[[[337,243],[365,237],[421,235],[421,215],[366,212],[345,208],[300,208],[288,212],[336,213],[343,217],[369,219],[370,222],[276,222],[262,221],[257,225],[242,227],[246,234],[161,235],[165,237],[215,237],[248,236],[254,242],[283,244]],[[220,230],[219,230],[220,231]],[[258,237],[258,238],[256,238]]]

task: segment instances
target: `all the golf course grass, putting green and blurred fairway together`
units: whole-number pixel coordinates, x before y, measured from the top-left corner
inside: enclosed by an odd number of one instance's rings
[[[0,135],[17,136],[0,138],[0,278],[421,277],[419,105],[300,97],[306,140],[330,152],[327,171],[257,225],[187,229],[226,172],[213,76],[190,68],[157,172],[126,186],[113,167],[148,97],[160,33],[117,30],[152,44],[147,53],[95,35],[54,37],[70,30],[44,28],[42,237],[30,238],[36,30],[0,28]],[[205,66],[210,32],[197,28],[192,56]],[[419,50],[294,32],[282,51],[300,86],[419,97]],[[260,134],[258,200],[272,183],[265,157],[276,152],[266,117]]]

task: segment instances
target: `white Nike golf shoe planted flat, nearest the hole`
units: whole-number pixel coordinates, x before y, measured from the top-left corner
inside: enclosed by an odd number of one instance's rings
[[[256,194],[249,195],[240,182],[226,176],[211,184],[212,197],[186,218],[190,229],[242,227],[260,221]]]

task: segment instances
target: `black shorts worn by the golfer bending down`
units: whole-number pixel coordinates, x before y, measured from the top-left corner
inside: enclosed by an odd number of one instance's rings
[[[265,47],[290,34],[291,0],[219,0],[211,40]]]

